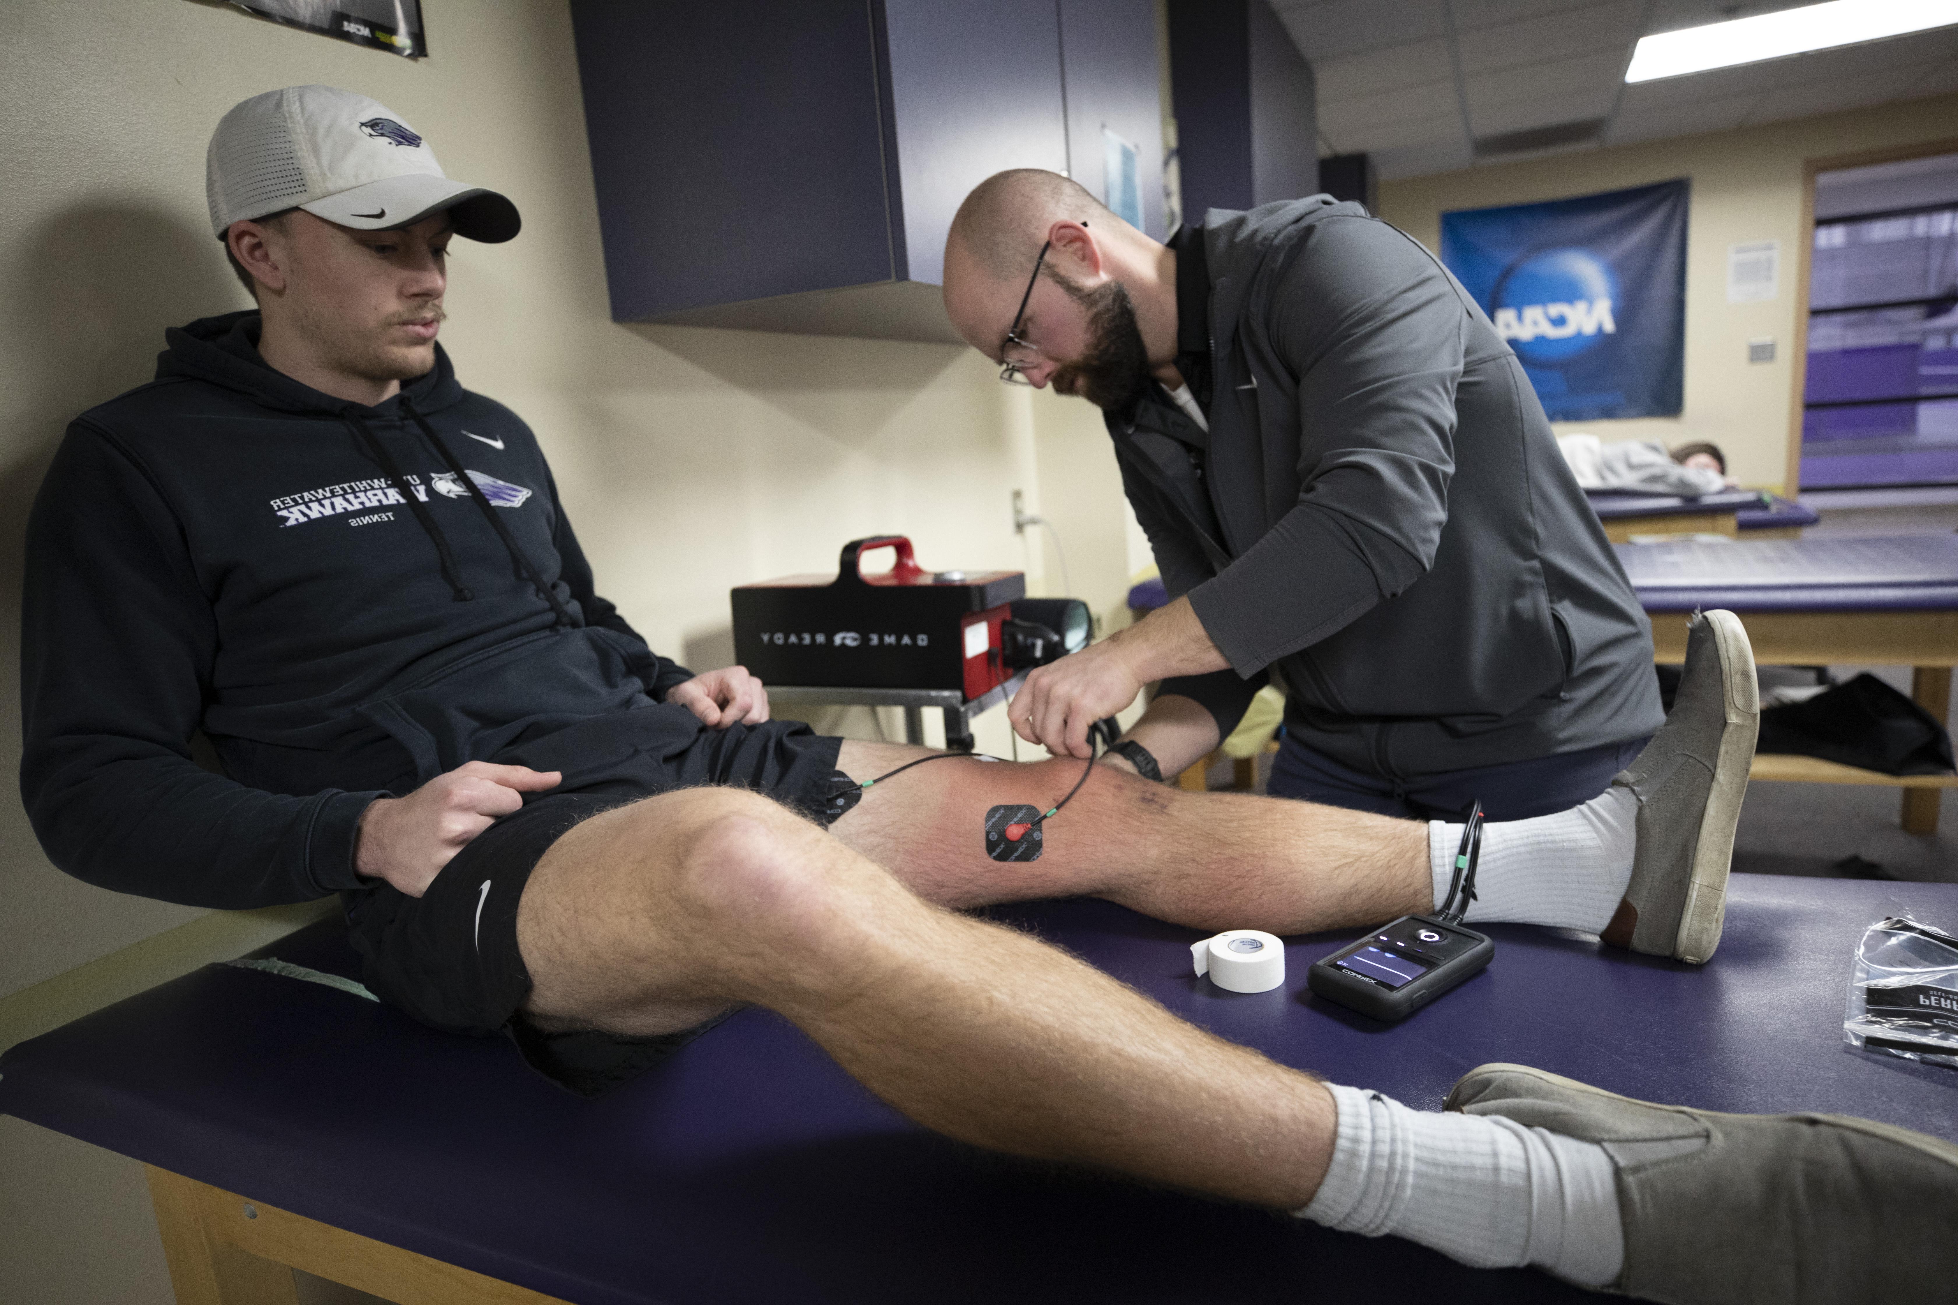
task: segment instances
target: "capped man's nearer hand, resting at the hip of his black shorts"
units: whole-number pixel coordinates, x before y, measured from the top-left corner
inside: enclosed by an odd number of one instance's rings
[[[497,816],[523,806],[523,794],[556,788],[558,771],[470,761],[437,775],[405,798],[380,798],[360,814],[354,873],[386,878],[419,898],[448,859]]]

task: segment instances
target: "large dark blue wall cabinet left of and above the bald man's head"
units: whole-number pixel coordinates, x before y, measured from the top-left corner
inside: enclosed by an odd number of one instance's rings
[[[946,231],[1002,168],[1161,237],[1151,0],[572,0],[615,321],[957,340]],[[1032,254],[1030,254],[1032,258]]]

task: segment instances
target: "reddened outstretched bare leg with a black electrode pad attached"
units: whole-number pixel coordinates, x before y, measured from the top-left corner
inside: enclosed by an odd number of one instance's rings
[[[844,742],[840,769],[875,779],[922,747]],[[1051,808],[1083,761],[932,761],[877,785],[834,832],[942,906],[1102,896],[1204,929],[1310,933],[1433,910],[1427,826],[1312,802],[1185,792],[1112,765],[1044,830],[1040,861],[985,853],[987,808]]]

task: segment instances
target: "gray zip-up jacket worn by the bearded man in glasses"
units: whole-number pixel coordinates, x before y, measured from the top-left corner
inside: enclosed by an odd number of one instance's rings
[[[1420,777],[1664,722],[1653,638],[1521,364],[1412,237],[1312,196],[1202,225],[1210,430],[1108,415],[1171,599],[1232,671],[1165,689]],[[1185,323],[1185,331],[1190,325]]]

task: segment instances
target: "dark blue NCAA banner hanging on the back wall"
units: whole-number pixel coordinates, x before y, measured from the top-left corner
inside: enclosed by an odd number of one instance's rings
[[[1551,421],[1674,417],[1686,376],[1688,184],[1459,209],[1441,260]]]

